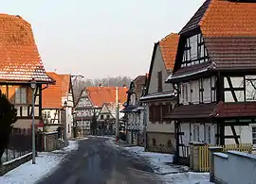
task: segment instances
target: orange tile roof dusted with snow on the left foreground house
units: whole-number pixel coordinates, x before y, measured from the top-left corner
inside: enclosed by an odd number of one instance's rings
[[[0,14],[0,81],[52,82],[46,75],[31,25],[20,16]]]

